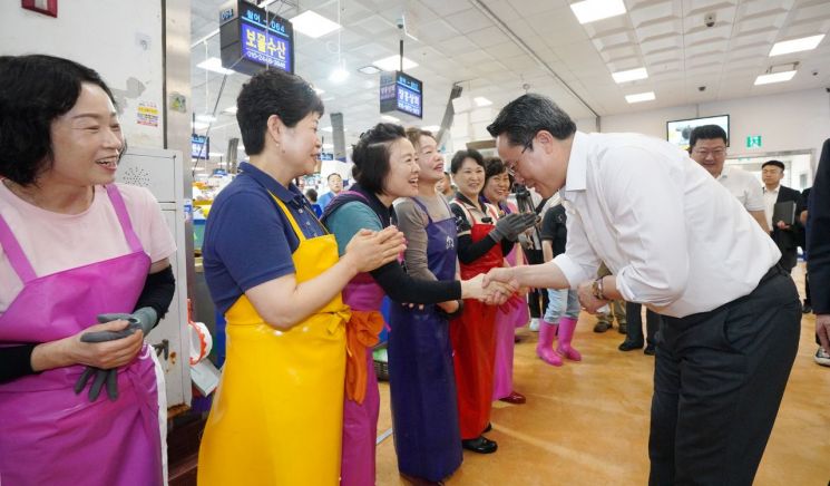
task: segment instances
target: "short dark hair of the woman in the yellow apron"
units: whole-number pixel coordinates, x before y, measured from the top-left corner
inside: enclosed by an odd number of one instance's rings
[[[294,127],[311,113],[323,115],[323,101],[303,78],[282,69],[257,72],[242,86],[236,98],[236,122],[245,153],[258,155],[265,148],[271,115]]]

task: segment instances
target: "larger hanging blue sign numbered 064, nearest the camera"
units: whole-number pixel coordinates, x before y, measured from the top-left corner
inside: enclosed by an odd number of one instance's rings
[[[222,67],[251,76],[265,67],[294,72],[294,28],[289,20],[244,0],[223,7],[219,18]]]

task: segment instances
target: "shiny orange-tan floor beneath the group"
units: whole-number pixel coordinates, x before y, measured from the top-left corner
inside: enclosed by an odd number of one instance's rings
[[[802,286],[803,272],[793,273]],[[449,485],[644,485],[648,477],[648,409],[653,358],[621,352],[616,329],[592,332],[583,314],[574,338],[583,361],[553,368],[536,358],[537,334],[523,328],[515,389],[526,405],[496,402],[496,454],[465,453]],[[756,485],[826,485],[830,479],[830,368],[812,356],[814,318],[802,320],[801,344]],[[381,385],[379,434],[391,427],[389,388]],[[378,484],[404,485],[394,445],[378,446]]]

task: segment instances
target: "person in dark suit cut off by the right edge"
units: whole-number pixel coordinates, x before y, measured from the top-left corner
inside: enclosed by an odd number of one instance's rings
[[[824,140],[816,179],[810,191],[808,211],[807,261],[810,283],[816,292],[812,309],[816,313],[816,334],[821,346],[816,353],[819,365],[830,365],[830,138]],[[823,352],[822,352],[823,351]]]

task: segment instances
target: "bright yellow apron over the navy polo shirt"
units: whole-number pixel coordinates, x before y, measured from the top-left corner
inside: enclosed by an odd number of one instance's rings
[[[306,240],[274,201],[300,239],[292,255],[297,282],[334,265],[334,236]],[[228,309],[227,358],[199,449],[199,485],[339,483],[349,318],[340,294],[289,331],[265,323],[245,295]]]

